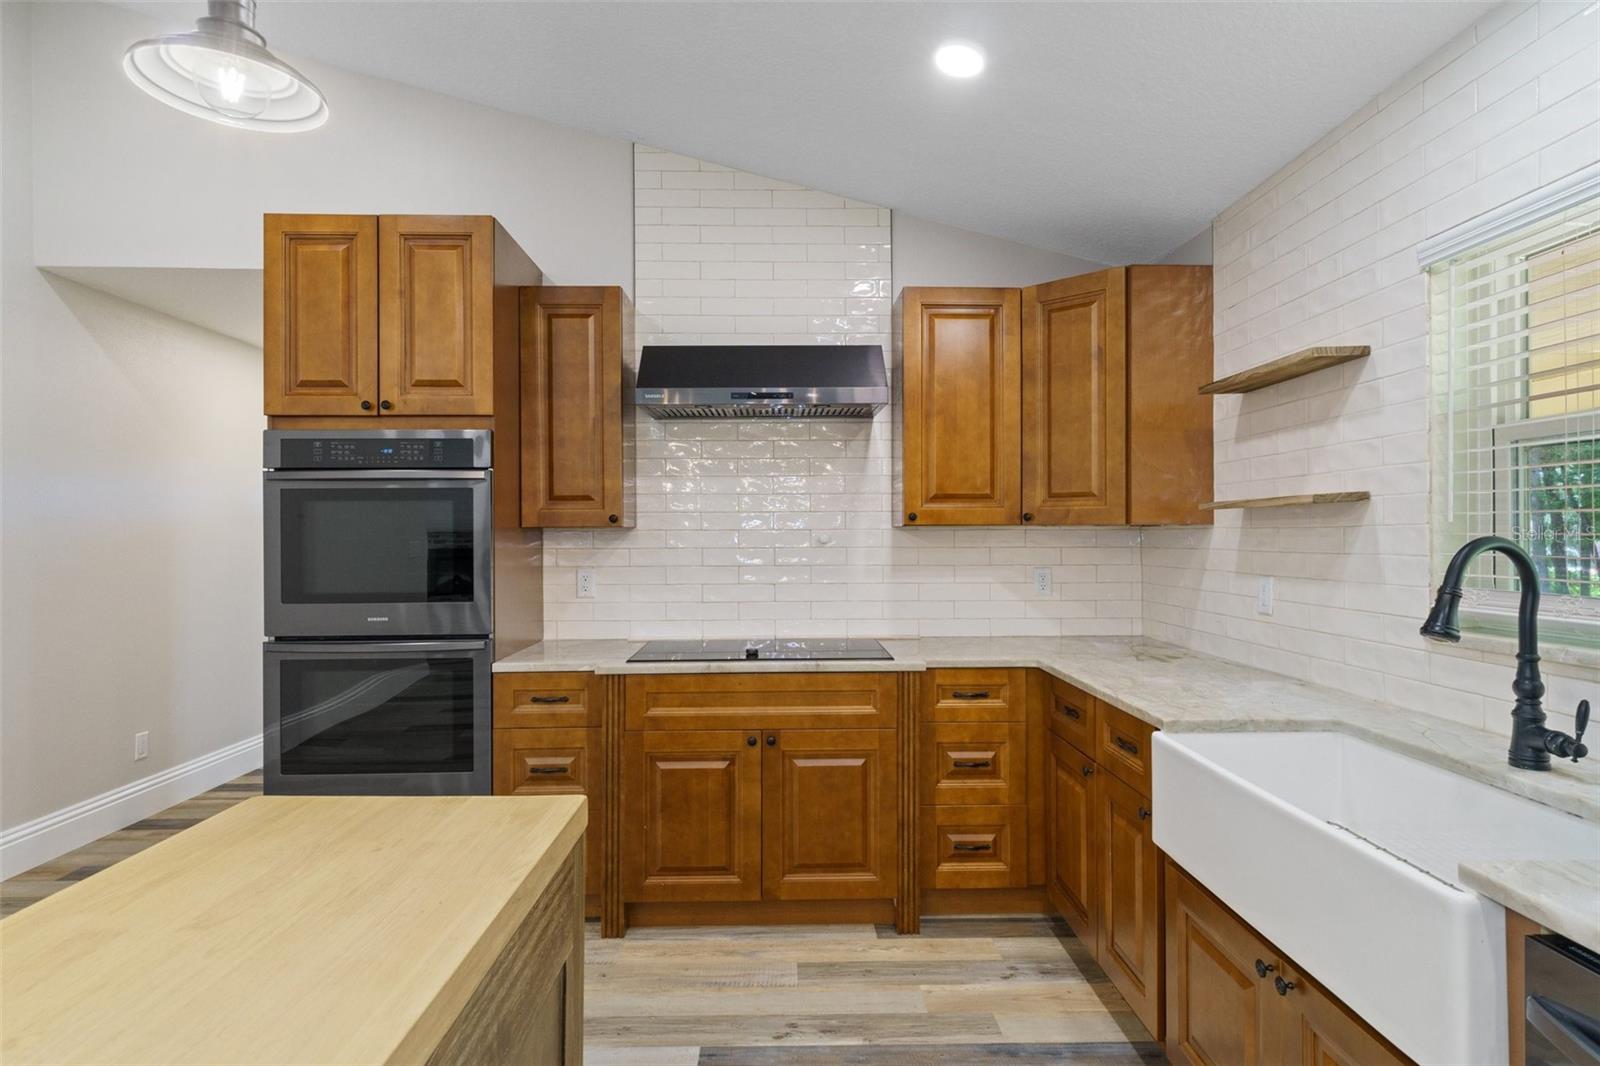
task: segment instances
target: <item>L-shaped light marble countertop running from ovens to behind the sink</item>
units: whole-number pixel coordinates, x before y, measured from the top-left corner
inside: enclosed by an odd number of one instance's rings
[[[1517,795],[1600,821],[1600,759],[1558,760],[1547,773],[1506,765],[1504,731],[1461,725],[1363,699],[1283,674],[1142,637],[931,637],[885,640],[894,661],[627,663],[632,640],[549,640],[507,655],[496,672],[597,674],[859,672],[939,667],[1034,667],[1163,730],[1333,730],[1443,767]],[[1507,699],[1510,669],[1506,672]]]

